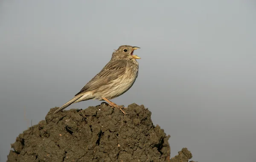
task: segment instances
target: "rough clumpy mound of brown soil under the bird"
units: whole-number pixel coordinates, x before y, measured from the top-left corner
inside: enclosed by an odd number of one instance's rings
[[[183,148],[170,160],[170,136],[153,125],[143,105],[129,105],[126,115],[105,104],[53,116],[56,109],[17,137],[7,162],[188,162],[192,157]]]

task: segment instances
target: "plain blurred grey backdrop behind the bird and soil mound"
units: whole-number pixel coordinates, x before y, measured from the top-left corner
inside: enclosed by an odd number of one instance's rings
[[[113,102],[148,107],[171,156],[256,162],[255,0],[2,0],[0,161],[126,44],[141,47],[139,77]]]

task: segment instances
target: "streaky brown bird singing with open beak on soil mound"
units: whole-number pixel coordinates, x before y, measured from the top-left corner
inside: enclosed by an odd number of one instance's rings
[[[112,53],[111,60],[67,103],[58,108],[53,114],[64,110],[69,105],[89,99],[105,100],[113,108],[119,108],[122,113],[124,106],[116,105],[110,99],[119,97],[128,91],[138,77],[140,59],[134,55],[134,50],[140,47],[121,45]]]

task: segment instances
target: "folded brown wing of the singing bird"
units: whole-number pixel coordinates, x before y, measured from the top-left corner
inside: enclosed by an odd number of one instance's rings
[[[102,85],[107,85],[111,81],[120,77],[125,73],[127,62],[125,60],[116,60],[109,62],[90,82],[88,82],[81,91],[75,96],[93,89],[99,88]]]

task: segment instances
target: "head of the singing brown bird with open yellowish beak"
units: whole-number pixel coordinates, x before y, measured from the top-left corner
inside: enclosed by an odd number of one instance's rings
[[[121,45],[117,50],[112,54],[111,60],[131,60],[131,59],[140,59],[137,55],[134,55],[134,50],[140,47],[134,47],[131,45]]]

